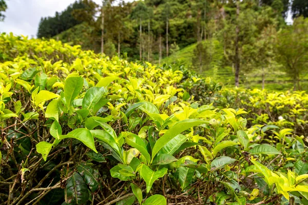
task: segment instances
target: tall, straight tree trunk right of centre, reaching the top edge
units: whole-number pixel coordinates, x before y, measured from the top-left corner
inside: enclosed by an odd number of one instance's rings
[[[236,37],[235,37],[235,86],[239,87],[239,81],[240,81],[240,54],[239,54],[239,14],[240,14],[240,2],[237,0],[236,2],[236,20],[237,20],[237,26],[235,29]]]

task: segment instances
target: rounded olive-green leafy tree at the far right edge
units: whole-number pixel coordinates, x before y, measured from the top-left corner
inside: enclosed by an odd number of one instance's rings
[[[294,89],[300,90],[300,76],[308,70],[308,18],[298,17],[278,33],[277,53],[278,61],[293,78]]]

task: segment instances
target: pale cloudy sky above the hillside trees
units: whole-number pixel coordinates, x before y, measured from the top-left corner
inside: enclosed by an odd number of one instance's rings
[[[131,2],[132,0],[126,0]],[[55,12],[61,12],[75,0],[8,0],[6,18],[0,22],[1,32],[13,32],[15,35],[28,35],[36,37],[38,23],[41,17],[54,16]],[[101,4],[101,0],[94,0]],[[292,23],[291,14],[286,22]]]

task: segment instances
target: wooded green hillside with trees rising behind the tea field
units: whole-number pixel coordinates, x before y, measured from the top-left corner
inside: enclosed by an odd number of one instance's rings
[[[307,4],[106,0],[100,6],[86,0],[42,18],[37,37],[53,37],[108,56],[118,53],[129,60],[183,65],[225,85],[307,90]],[[292,25],[285,23],[287,15],[292,15]]]

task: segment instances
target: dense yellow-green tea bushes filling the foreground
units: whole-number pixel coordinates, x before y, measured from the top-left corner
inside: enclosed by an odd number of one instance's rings
[[[308,203],[304,92],[0,42],[1,203]]]

